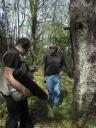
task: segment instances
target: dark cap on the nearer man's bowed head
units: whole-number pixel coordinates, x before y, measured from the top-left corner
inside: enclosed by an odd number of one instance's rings
[[[21,44],[22,48],[27,50],[30,47],[30,40],[28,38],[19,38],[17,39],[16,45]]]

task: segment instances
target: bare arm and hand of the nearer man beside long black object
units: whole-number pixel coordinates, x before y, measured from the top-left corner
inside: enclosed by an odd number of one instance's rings
[[[20,82],[18,82],[16,79],[13,77],[13,69],[9,67],[5,67],[4,69],[4,76],[8,80],[8,82],[13,86],[15,89],[20,91],[24,96],[28,97],[31,95],[31,92],[25,88]]]

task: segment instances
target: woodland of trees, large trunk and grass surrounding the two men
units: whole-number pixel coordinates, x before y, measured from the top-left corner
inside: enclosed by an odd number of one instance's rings
[[[3,53],[16,39],[27,37],[31,47],[28,65],[38,66],[34,74],[47,91],[43,58],[48,46],[59,44],[66,70],[62,77],[61,105],[57,110],[30,97],[30,114],[36,128],[95,128],[96,116],[96,2],[95,0],[0,0],[0,66]],[[7,115],[0,98],[0,127]]]

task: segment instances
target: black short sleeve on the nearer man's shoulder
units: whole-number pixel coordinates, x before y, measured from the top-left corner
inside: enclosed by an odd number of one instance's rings
[[[12,50],[7,51],[3,56],[3,64],[6,67],[17,68],[18,67],[19,58],[16,52]]]

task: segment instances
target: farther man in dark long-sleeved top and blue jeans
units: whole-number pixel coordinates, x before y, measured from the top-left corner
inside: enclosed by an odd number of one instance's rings
[[[60,101],[61,76],[65,62],[57,44],[50,45],[49,52],[44,59],[44,76],[48,85],[49,104],[57,107]]]

